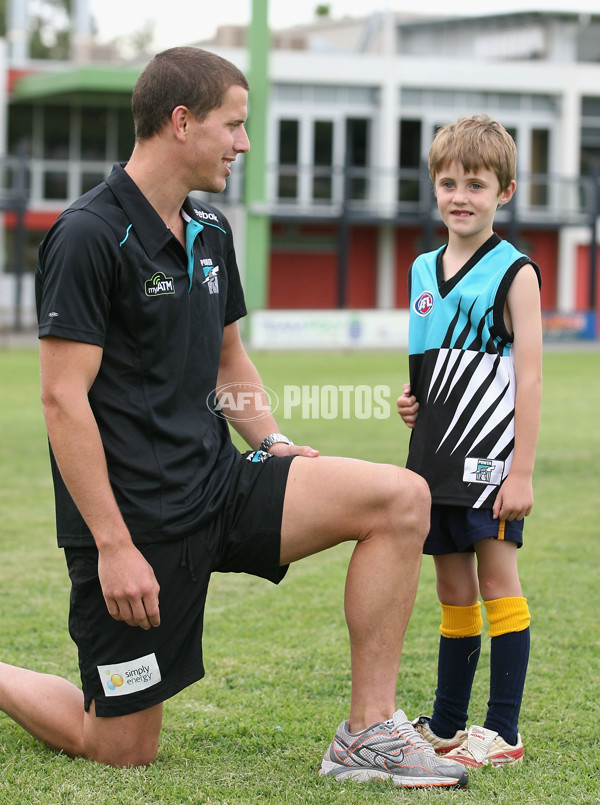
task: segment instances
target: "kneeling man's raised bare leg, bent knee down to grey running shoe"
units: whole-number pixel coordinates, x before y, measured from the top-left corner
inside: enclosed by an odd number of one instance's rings
[[[348,567],[350,727],[392,716],[402,643],[429,530],[425,481],[391,465],[353,459],[294,459],[286,488],[281,562],[357,540]]]

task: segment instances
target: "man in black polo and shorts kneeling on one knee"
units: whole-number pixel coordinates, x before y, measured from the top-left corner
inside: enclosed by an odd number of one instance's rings
[[[0,664],[0,708],[72,757],[151,763],[164,700],[204,675],[211,573],[278,583],[291,562],[355,540],[350,714],[321,773],[464,786],[464,767],[439,759],[395,705],[426,483],[296,447],[256,404],[234,423],[252,448],[241,455],[209,405],[219,387],[261,382],[238,331],[231,229],[188,196],[223,190],[248,151],[247,97],[245,76],[214,54],[158,54],[134,89],[129,162],[40,247],[42,402],[83,692]]]

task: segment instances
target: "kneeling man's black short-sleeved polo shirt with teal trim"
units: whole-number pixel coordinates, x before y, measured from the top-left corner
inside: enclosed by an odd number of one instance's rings
[[[121,165],[39,249],[39,337],[97,344],[89,400],[135,542],[193,533],[219,511],[237,451],[209,410],[223,327],[245,315],[229,223],[189,197],[187,254]],[[58,541],[93,544],[53,456]]]

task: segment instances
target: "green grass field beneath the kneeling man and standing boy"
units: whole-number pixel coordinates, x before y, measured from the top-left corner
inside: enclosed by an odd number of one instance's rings
[[[403,464],[408,430],[394,413],[404,355],[257,354],[263,380],[286,385],[390,388],[389,417],[302,419],[282,430],[324,454]],[[0,659],[78,683],[66,619],[68,581],[54,511],[37,353],[0,350]],[[110,769],[38,744],[0,714],[0,804],[392,803],[545,805],[600,802],[600,351],[548,351],[536,504],[520,551],[532,611],[532,651],[519,768],[481,769],[460,792],[336,784],[317,776],[347,715],[348,641],[342,611],[350,546],[292,568],[280,588],[216,575],[205,630],[207,677],[165,706],[157,762]],[[288,412],[289,413],[289,412]],[[430,712],[439,607],[425,559],[405,643],[398,701]],[[489,640],[484,636],[470,718],[482,723]]]

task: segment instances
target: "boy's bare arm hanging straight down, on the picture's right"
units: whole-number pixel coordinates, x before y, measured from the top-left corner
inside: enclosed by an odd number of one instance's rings
[[[533,507],[533,466],[542,404],[542,316],[537,274],[524,266],[506,299],[515,365],[515,448],[510,472],[494,503],[494,517],[522,520]]]

